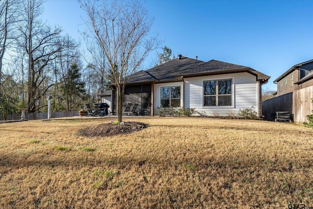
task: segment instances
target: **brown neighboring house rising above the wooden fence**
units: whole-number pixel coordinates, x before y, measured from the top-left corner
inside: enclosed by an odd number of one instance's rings
[[[274,80],[277,84],[276,96],[313,86],[312,78],[313,60],[294,65]]]

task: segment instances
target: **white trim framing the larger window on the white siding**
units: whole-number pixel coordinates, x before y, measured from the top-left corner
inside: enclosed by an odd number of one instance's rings
[[[212,81],[212,80],[229,80],[231,79],[231,106],[204,106],[204,90],[203,90],[203,81]],[[203,109],[221,109],[221,108],[234,108],[235,107],[235,78],[234,77],[216,77],[216,78],[206,78],[201,79],[201,108]]]

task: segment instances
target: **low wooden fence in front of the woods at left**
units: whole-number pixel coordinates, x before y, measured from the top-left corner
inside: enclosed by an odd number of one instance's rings
[[[72,112],[55,112],[51,113],[50,118],[58,118],[58,117],[73,117],[79,116],[78,111]],[[27,120],[38,120],[38,119],[47,119],[48,113],[29,113],[25,114]],[[20,120],[21,114],[8,115],[8,120]],[[0,120],[3,120],[3,116],[0,116]]]

